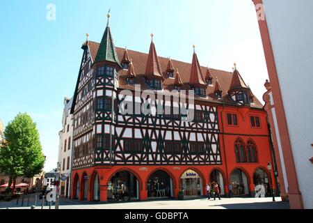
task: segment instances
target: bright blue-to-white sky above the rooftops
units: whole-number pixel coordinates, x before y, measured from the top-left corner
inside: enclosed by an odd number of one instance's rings
[[[56,6],[48,21],[47,5]],[[100,41],[111,8],[115,45],[148,52],[150,33],[159,56],[191,62],[196,45],[202,66],[232,70],[262,101],[268,79],[261,37],[251,0],[10,0],[0,3],[0,118],[18,112],[38,124],[47,162],[56,167],[64,96],[74,93],[81,44]]]

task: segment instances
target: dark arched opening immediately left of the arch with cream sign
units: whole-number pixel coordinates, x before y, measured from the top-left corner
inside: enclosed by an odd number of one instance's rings
[[[172,178],[166,171],[157,170],[147,180],[147,194],[150,199],[173,197]]]

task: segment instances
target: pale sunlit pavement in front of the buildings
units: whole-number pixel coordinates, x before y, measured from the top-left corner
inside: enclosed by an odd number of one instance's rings
[[[276,202],[272,201],[271,197],[266,198],[222,198],[214,201],[213,199],[188,199],[188,200],[154,200],[154,201],[131,201],[120,203],[96,203],[89,201],[77,201],[71,199],[62,199],[60,209],[289,209],[289,203],[281,201],[280,197],[275,198]],[[30,209],[34,204],[34,195],[29,201],[29,206],[26,206],[27,199],[24,198],[24,206],[16,205],[16,199],[13,201],[0,202],[0,208],[22,208]],[[41,208],[42,201],[37,201],[36,209]],[[49,209],[48,205],[44,209]],[[51,209],[54,209],[52,204]]]

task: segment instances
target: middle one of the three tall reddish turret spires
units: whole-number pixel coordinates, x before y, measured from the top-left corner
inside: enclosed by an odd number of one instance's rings
[[[195,53],[195,45],[193,45],[193,62],[191,63],[191,75],[190,75],[189,83],[193,87],[197,87],[197,86],[206,87],[207,86],[207,84],[204,82],[202,70],[200,68],[200,64],[198,61],[198,56]]]

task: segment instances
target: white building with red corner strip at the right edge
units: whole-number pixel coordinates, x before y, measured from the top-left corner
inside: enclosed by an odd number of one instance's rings
[[[313,2],[253,0],[269,82],[264,101],[283,197],[313,208]]]

